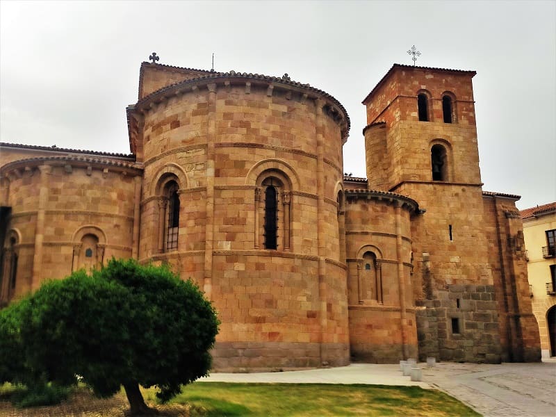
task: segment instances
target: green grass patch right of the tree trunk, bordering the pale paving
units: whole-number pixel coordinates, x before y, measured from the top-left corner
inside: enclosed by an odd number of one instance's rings
[[[480,416],[417,386],[197,382],[172,402],[190,404],[191,416]]]

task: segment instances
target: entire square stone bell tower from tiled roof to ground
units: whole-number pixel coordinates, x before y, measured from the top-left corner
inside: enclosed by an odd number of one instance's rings
[[[411,222],[420,359],[507,360],[499,319],[506,294],[491,256],[473,76],[395,64],[363,100],[368,188],[407,195],[424,212]],[[521,343],[519,332],[513,338]]]

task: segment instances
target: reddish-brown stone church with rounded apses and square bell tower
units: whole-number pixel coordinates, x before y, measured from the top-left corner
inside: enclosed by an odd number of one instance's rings
[[[129,155],[0,144],[0,302],[132,257],[213,301],[215,370],[539,361],[519,196],[482,190],[474,75],[393,65],[363,99],[357,178],[327,92],[142,63]]]

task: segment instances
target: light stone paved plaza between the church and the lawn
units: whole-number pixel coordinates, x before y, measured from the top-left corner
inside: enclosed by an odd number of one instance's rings
[[[398,365],[353,363],[329,369],[277,373],[213,373],[202,381],[321,384],[415,385],[439,389],[468,404],[484,417],[556,416],[556,359],[542,363],[436,363],[423,370],[423,381],[411,382]]]

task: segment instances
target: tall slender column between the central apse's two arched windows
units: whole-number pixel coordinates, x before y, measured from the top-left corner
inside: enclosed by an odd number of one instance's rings
[[[206,225],[203,291],[206,294],[208,300],[211,300],[214,247],[214,141],[216,133],[216,83],[207,84],[206,88],[208,88],[208,116],[206,120]]]

